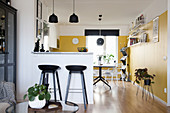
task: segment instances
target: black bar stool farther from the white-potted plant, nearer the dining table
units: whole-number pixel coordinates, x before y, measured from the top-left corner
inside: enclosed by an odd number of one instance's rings
[[[81,74],[81,83],[82,83],[83,101],[84,101],[84,108],[85,109],[86,109],[86,104],[88,104],[88,99],[87,99],[86,84],[85,84],[83,71],[86,68],[87,68],[86,66],[82,66],[82,65],[68,65],[68,66],[66,66],[66,69],[69,70],[69,77],[68,77],[66,96],[65,96],[65,103],[67,103],[68,93],[75,93],[75,92],[69,92],[69,90],[74,90],[74,89],[69,89],[70,81],[71,81],[71,75],[72,75],[72,73],[80,73]]]

